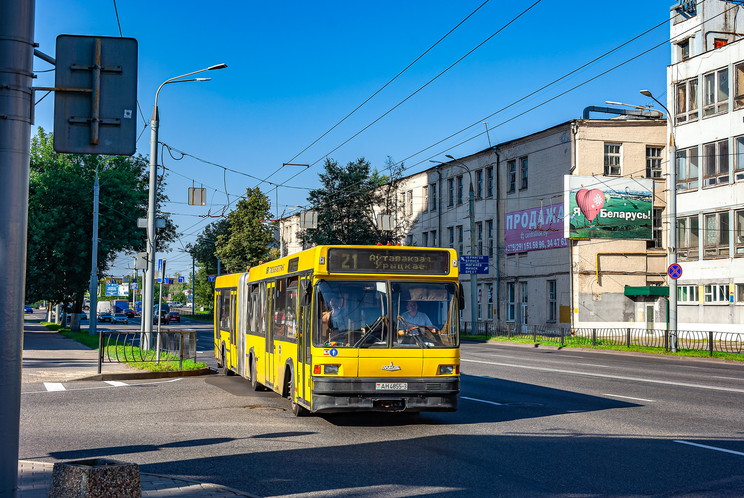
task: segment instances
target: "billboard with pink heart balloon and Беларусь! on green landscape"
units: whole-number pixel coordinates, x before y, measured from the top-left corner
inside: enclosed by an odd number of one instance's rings
[[[565,175],[564,237],[650,240],[653,180]]]

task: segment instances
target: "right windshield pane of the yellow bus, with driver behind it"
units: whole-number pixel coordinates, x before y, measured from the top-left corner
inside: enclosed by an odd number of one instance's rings
[[[393,282],[396,348],[454,348],[459,343],[455,284]]]

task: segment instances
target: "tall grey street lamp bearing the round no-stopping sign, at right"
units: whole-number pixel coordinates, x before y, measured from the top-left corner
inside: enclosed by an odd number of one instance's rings
[[[667,219],[669,223],[669,264],[677,262],[677,145],[674,141],[674,120],[669,109],[654,98],[648,90],[639,90],[641,95],[652,98],[655,103],[667,112],[669,128],[669,160],[667,161]],[[670,277],[669,283],[669,342],[670,349],[677,351],[677,279]]]

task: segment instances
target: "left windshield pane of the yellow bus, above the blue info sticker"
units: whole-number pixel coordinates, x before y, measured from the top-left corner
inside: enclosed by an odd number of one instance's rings
[[[387,282],[323,280],[316,288],[315,345],[388,347]]]

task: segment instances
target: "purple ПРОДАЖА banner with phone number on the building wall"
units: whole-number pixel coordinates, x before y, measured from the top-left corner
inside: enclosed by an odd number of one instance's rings
[[[504,222],[506,254],[568,247],[563,238],[563,205],[512,211]]]

